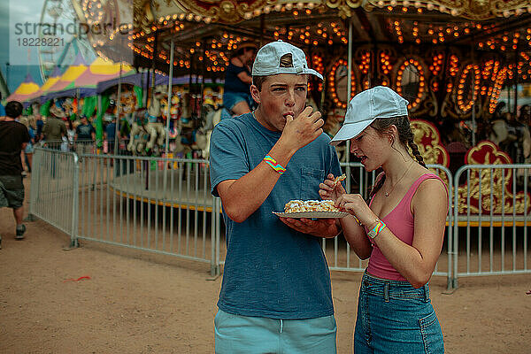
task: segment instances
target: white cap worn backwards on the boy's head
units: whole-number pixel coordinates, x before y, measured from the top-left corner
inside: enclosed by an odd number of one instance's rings
[[[291,54],[292,67],[281,66],[281,58],[286,54]],[[260,48],[252,64],[253,76],[269,76],[278,73],[311,73],[323,80],[323,75],[308,67],[303,50],[282,41],[270,42]]]

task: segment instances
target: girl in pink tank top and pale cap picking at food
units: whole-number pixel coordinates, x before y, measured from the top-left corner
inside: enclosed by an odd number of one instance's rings
[[[343,235],[359,258],[369,258],[358,297],[356,354],[444,351],[427,281],[443,247],[448,191],[413,142],[407,104],[386,87],[362,91],[332,139],[350,140],[366,172],[382,168],[368,204],[335,186],[333,175],[320,185],[323,199],[351,214],[340,219]]]

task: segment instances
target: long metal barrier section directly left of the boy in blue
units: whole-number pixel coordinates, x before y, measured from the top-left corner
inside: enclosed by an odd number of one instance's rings
[[[210,263],[214,198],[207,161],[80,156],[80,239]]]

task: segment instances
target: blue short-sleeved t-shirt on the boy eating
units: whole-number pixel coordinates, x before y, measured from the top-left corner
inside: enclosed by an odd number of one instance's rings
[[[211,140],[212,195],[220,181],[237,180],[253,170],[281,137],[251,113],[224,119]],[[291,199],[319,199],[319,183],[328,173],[341,174],[335,148],[322,134],[289,160],[271,194],[242,223],[223,218],[227,256],[219,309],[243,316],[311,319],[334,313],[330,272],[321,239],[296,232],[273,212]]]

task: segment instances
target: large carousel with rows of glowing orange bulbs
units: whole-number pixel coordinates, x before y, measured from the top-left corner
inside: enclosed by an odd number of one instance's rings
[[[126,150],[138,155],[208,158],[210,133],[223,110],[224,72],[242,42],[280,39],[306,52],[309,65],[325,77],[312,79],[308,100],[323,113],[329,135],[341,126],[351,96],[376,85],[396,89],[410,102],[415,140],[427,162],[449,167],[453,160],[454,169],[468,162],[470,150],[485,146],[500,96],[517,116],[522,85],[531,81],[531,5],[525,0],[73,3],[81,22],[119,24],[110,33],[89,33],[100,58],[127,61],[150,75],[142,90],[124,91],[120,80],[107,88],[118,102],[124,92],[142,95],[127,99],[127,111],[118,104],[113,112],[121,118],[146,107],[143,117],[150,121],[134,119],[127,142]],[[157,74],[165,81],[157,83]],[[144,138],[135,134],[146,125],[153,129]],[[492,149],[504,154],[487,145],[474,150],[476,161],[487,161]],[[350,154],[338,152],[350,162]]]

